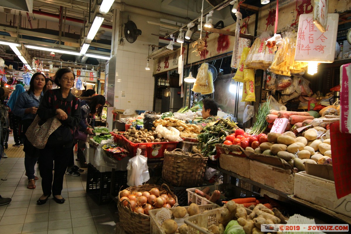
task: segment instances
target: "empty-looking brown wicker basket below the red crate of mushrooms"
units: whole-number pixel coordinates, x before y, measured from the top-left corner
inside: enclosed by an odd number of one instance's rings
[[[203,183],[207,159],[181,149],[165,151],[162,178],[174,186],[199,186]]]

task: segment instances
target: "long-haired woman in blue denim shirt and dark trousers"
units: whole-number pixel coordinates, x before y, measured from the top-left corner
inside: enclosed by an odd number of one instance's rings
[[[13,108],[13,113],[22,118],[19,124],[19,134],[24,143],[24,165],[26,167],[26,175],[28,177],[27,188],[29,189],[34,189],[35,180],[39,179],[34,175],[34,166],[38,161],[39,150],[35,148],[31,142],[28,141],[26,132],[29,125],[31,125],[35,116],[37,115],[39,102],[43,96],[42,90],[44,86],[44,74],[40,72],[34,73],[31,81],[29,82],[29,90],[27,92],[21,93],[18,96],[16,99],[15,107]]]

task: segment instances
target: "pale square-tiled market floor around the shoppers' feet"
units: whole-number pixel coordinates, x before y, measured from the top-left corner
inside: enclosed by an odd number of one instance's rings
[[[35,168],[38,174],[38,165]],[[0,233],[35,234],[110,234],[115,233],[115,204],[98,206],[85,193],[86,173],[65,175],[62,196],[64,204],[51,198],[38,206],[42,194],[41,178],[37,188],[27,189],[24,158],[0,160],[0,195],[12,202],[0,206]]]

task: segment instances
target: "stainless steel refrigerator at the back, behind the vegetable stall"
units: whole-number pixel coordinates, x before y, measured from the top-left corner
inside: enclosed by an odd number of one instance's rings
[[[181,88],[166,88],[162,91],[161,113],[177,112],[183,107],[183,98],[180,97]]]

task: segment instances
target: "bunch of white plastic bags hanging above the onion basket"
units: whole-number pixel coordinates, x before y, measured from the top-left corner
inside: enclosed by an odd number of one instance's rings
[[[141,149],[137,149],[137,155],[128,162],[127,185],[139,186],[143,185],[150,179],[149,169],[147,166],[147,158],[140,154]]]

